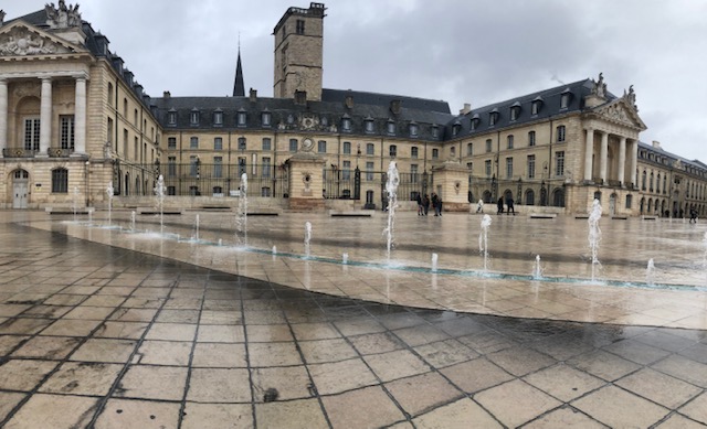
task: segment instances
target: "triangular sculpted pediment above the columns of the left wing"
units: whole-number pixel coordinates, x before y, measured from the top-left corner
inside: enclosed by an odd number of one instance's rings
[[[0,56],[68,54],[78,51],[84,50],[21,21],[0,31]]]

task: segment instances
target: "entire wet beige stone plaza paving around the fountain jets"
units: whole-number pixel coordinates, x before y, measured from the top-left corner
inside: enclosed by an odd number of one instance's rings
[[[0,216],[1,427],[707,427],[704,225]]]

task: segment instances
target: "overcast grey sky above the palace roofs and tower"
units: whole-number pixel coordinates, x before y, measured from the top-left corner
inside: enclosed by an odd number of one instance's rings
[[[45,0],[0,0],[6,20]],[[56,1],[57,2],[57,1]],[[603,73],[634,86],[641,140],[707,163],[707,1],[328,0],[324,86],[442,99],[457,112]],[[67,4],[74,4],[67,1]],[[296,0],[84,0],[154,97],[273,94],[273,28]]]

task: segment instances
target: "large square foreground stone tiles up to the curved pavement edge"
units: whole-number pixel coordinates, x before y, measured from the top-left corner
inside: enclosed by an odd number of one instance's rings
[[[371,302],[0,218],[3,428],[707,427],[703,329]]]

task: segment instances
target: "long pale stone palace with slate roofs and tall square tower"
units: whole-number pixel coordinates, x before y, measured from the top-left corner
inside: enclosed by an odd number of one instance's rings
[[[615,216],[707,212],[707,165],[644,143],[633,88],[601,74],[453,114],[444,101],[323,87],[323,3],[274,28],[273,97],[150,97],[78,6],[0,13],[0,207],[166,204],[384,208],[437,193],[445,211],[513,199],[520,212]],[[129,60],[129,58],[128,58]]]

